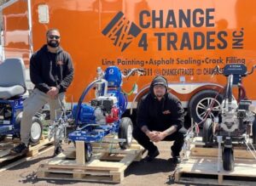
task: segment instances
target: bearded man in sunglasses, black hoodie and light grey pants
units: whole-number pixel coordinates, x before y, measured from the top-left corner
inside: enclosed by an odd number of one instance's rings
[[[55,119],[55,110],[61,109],[67,87],[73,81],[73,62],[70,55],[60,47],[61,35],[58,29],[46,33],[47,44],[30,59],[30,78],[35,88],[24,101],[20,123],[20,144],[11,149],[11,154],[25,154],[28,151],[32,117],[44,104],[50,108],[50,120]]]

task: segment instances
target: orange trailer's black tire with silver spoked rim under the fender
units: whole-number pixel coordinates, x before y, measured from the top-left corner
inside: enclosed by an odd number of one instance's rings
[[[189,101],[189,116],[193,118],[196,123],[203,121],[204,117],[207,116],[207,111],[212,104],[212,100],[215,99],[217,91],[213,90],[203,90],[199,93],[196,93],[192,99]],[[208,115],[208,117],[213,118],[218,116],[220,110],[220,105],[223,100],[223,95],[218,94],[215,103],[212,105],[213,110]]]

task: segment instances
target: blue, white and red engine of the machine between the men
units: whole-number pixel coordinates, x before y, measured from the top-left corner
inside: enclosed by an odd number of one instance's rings
[[[101,96],[90,101],[90,105],[81,104],[79,112],[80,124],[111,124],[119,120],[118,101],[113,96]],[[75,114],[77,105],[73,107]]]

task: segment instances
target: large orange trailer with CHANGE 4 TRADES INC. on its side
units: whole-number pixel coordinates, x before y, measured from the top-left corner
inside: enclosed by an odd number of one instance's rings
[[[28,67],[45,32],[55,27],[75,67],[67,99],[78,101],[97,66],[143,68],[144,76],[124,82],[126,92],[137,83],[130,108],[136,108],[152,78],[162,75],[201,121],[226,81],[212,76],[213,68],[243,63],[250,70],[256,63],[255,7],[254,0],[10,0],[1,7],[3,57],[20,57]],[[244,80],[254,104],[255,79],[254,74]]]

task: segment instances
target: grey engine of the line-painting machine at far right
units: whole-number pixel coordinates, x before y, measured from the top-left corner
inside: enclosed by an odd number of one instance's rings
[[[249,110],[251,104],[252,101],[249,100],[241,100],[239,104],[235,99],[230,104],[228,100],[223,101],[220,127],[224,132],[246,131],[247,127],[244,124],[252,123],[254,120],[253,113]]]

